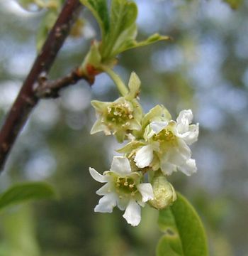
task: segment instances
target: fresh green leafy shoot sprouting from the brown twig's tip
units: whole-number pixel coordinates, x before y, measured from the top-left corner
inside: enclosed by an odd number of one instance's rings
[[[136,41],[137,6],[133,1],[112,0],[109,9],[107,0],[81,0],[81,3],[91,11],[98,21],[102,36],[101,42],[95,41],[91,45],[86,60],[81,65],[81,71],[86,75],[90,75],[92,68],[94,72],[95,70],[102,71],[103,65],[112,68],[115,65],[116,55],[125,50],[169,39],[169,36],[155,33],[144,41]],[[96,54],[96,49],[98,54]],[[91,51],[95,53],[92,54]]]

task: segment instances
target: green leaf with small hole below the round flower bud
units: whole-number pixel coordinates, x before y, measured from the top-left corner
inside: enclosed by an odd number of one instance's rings
[[[164,235],[157,256],[208,256],[205,230],[193,206],[177,193],[177,201],[159,212],[159,228]]]

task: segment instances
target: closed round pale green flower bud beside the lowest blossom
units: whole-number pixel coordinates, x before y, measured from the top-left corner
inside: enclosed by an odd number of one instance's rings
[[[150,206],[162,210],[176,201],[174,187],[167,181],[167,178],[160,170],[156,171],[152,179],[154,199],[150,200]]]

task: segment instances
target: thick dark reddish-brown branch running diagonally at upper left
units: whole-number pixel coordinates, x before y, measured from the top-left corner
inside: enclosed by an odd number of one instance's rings
[[[38,78],[41,74],[44,75],[50,70],[80,10],[81,4],[79,0],[67,0],[65,2],[40,54],[33,63],[28,77],[23,82],[21,91],[13,103],[0,131],[0,169],[3,169],[6,157],[9,151],[11,151],[16,137],[26,123],[31,110],[33,110],[33,107],[38,102],[39,98],[34,91],[34,89],[37,90]]]

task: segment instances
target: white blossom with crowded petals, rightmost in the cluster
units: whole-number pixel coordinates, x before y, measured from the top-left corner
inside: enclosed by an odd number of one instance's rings
[[[198,124],[191,124],[192,119],[191,110],[181,111],[174,121],[165,107],[156,106],[144,117],[143,139],[130,142],[119,151],[130,153],[139,168],[150,166],[165,175],[179,169],[190,176],[196,172],[196,161],[191,159],[188,145],[196,142],[199,133]]]

